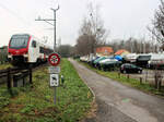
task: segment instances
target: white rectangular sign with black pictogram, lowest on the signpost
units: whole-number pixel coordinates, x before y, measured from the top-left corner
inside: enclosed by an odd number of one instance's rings
[[[59,74],[50,74],[50,86],[59,86]]]

